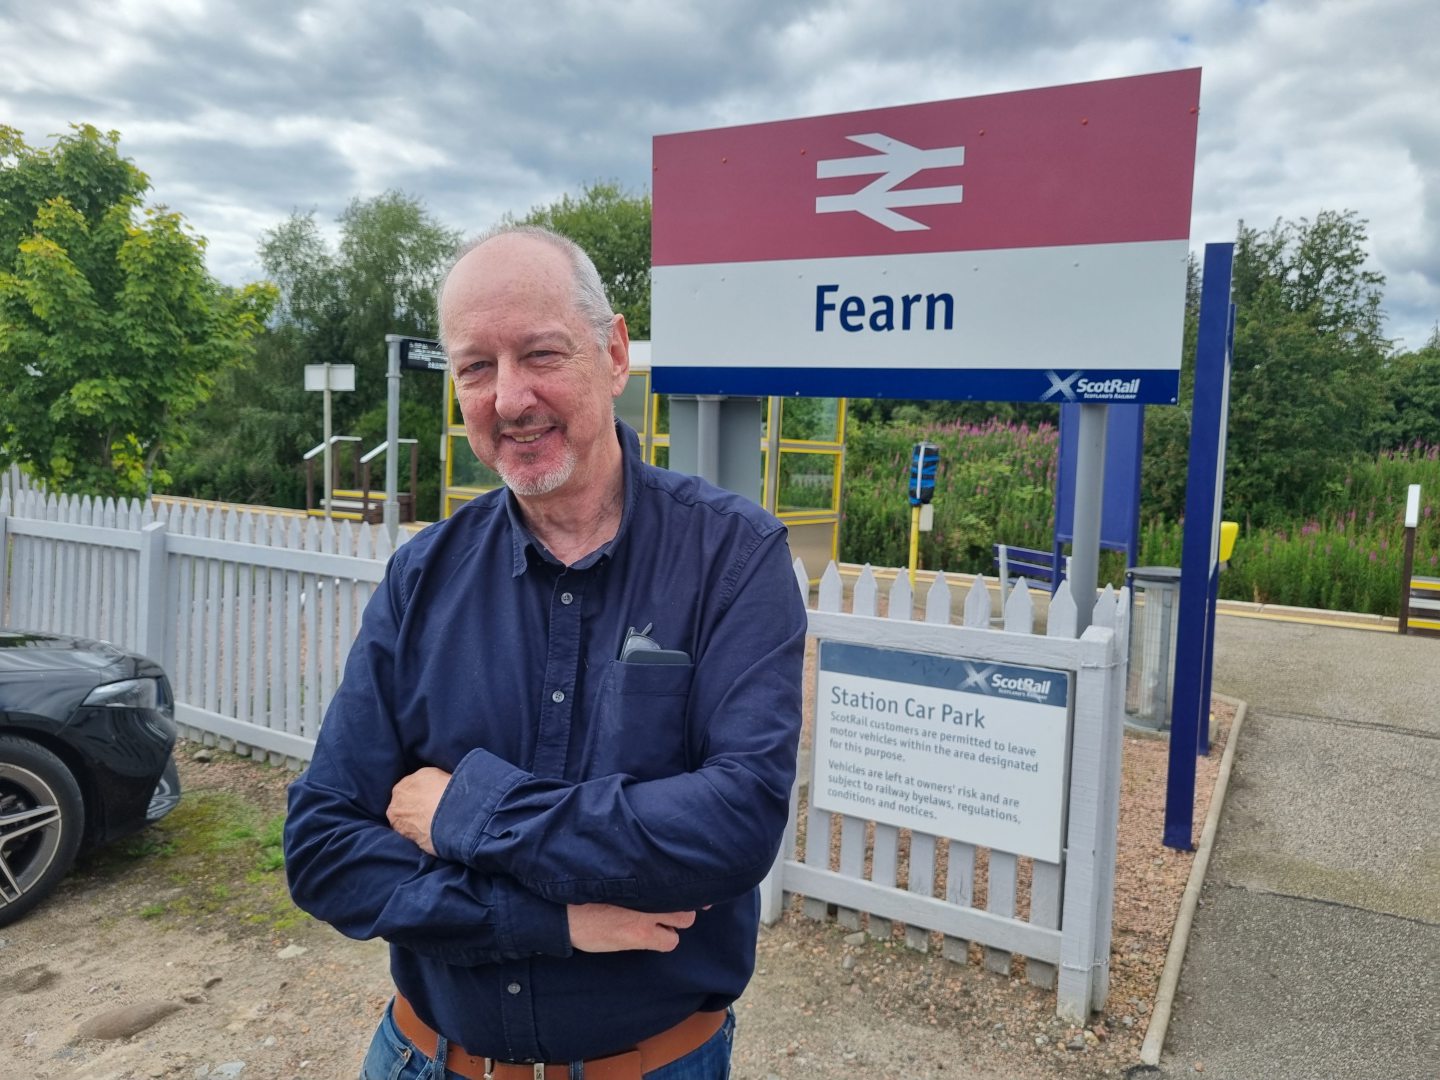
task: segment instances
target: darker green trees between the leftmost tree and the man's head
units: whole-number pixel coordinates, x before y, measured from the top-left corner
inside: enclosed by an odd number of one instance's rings
[[[384,438],[384,336],[436,336],[435,292],[459,235],[399,192],[351,200],[338,223],[336,246],[312,212],[294,213],[261,238],[261,264],[279,302],[253,363],[197,418],[206,445],[179,478],[190,494],[304,503],[301,455],[323,438],[321,397],[302,389],[305,364],[354,364],[356,390],[333,399],[334,431],[367,446]],[[419,513],[433,514],[444,379],[409,372],[400,387],[400,436],[420,441]],[[408,485],[408,452],[400,477]]]

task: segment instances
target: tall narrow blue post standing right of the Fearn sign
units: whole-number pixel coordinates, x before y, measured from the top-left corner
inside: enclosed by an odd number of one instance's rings
[[[1195,757],[1210,752],[1210,675],[1215,599],[1220,592],[1220,500],[1225,481],[1225,426],[1234,314],[1230,302],[1233,243],[1207,243],[1195,343],[1195,400],[1185,484],[1179,629],[1171,713],[1165,847],[1191,851],[1195,832]]]

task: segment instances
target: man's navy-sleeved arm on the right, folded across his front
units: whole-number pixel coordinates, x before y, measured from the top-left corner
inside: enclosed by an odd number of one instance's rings
[[[750,560],[696,658],[698,768],[566,782],[477,749],[439,799],[435,851],[556,903],[684,910],[747,891],[770,868],[789,812],[805,628],[780,533]]]

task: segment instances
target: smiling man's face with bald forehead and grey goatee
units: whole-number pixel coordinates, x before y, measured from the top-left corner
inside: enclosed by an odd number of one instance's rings
[[[625,320],[602,350],[575,307],[566,256],[501,235],[451,272],[441,304],[469,445],[521,497],[583,490],[615,445],[629,372]]]

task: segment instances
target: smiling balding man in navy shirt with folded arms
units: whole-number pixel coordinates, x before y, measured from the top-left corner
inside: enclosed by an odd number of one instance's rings
[[[366,1080],[723,1077],[799,734],[785,530],[641,461],[569,240],[482,239],[439,308],[507,488],[392,559],[291,785],[291,891],[390,942]]]

